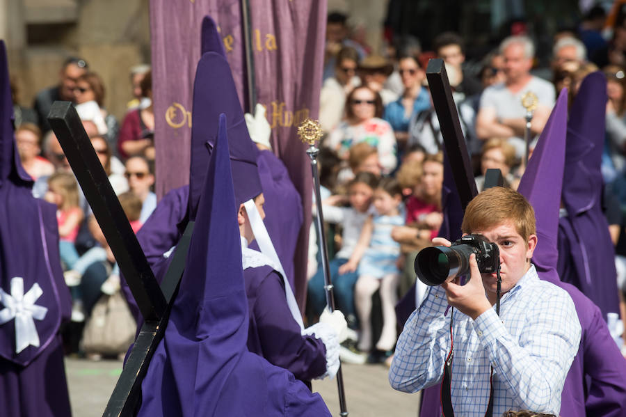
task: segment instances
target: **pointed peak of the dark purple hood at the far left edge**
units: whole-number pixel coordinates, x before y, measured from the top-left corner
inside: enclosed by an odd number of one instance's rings
[[[6,46],[0,40],[0,187],[7,180],[16,184],[33,185],[33,179],[19,161],[13,132],[13,101],[9,84]]]

